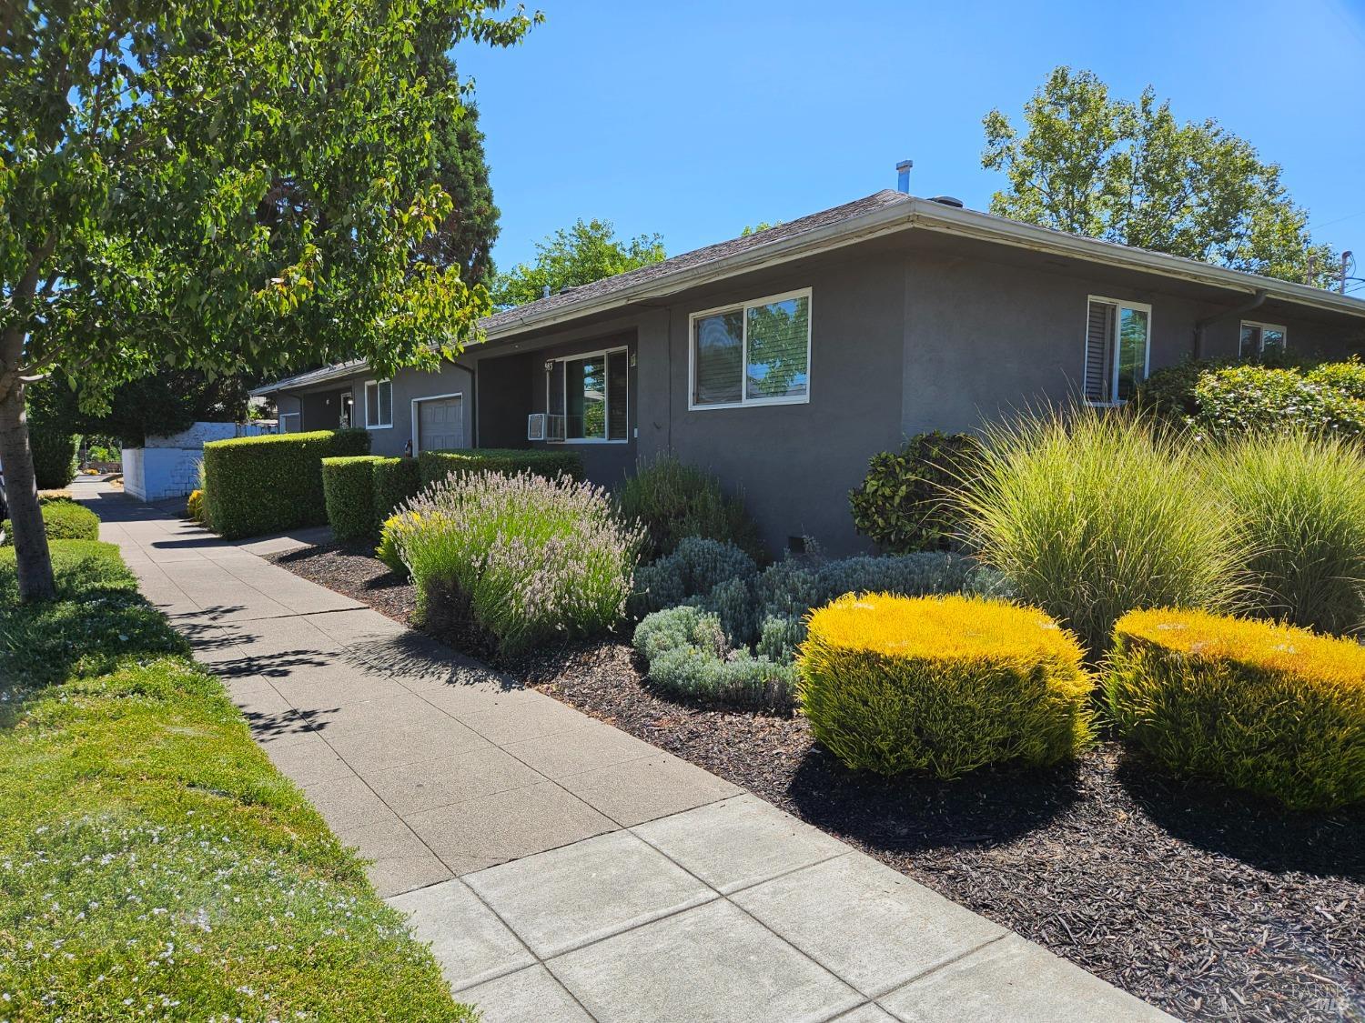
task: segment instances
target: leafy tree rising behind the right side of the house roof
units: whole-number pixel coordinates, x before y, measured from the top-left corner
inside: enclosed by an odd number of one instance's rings
[[[1181,124],[1151,86],[1137,102],[1093,72],[1055,68],[1024,105],[1021,134],[986,119],[983,166],[1009,187],[1003,217],[1074,235],[1327,286],[1336,258],[1314,246],[1276,164],[1216,120]]]

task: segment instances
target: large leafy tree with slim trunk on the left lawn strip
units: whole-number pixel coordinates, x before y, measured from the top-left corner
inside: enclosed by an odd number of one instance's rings
[[[446,221],[420,71],[517,42],[502,0],[19,0],[0,7],[0,461],[25,599],[53,593],[25,416],[169,368],[435,366],[489,310],[418,256]]]

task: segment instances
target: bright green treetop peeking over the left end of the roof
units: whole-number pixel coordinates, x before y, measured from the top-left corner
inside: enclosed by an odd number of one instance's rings
[[[636,235],[618,239],[609,220],[581,220],[572,228],[560,228],[535,246],[535,261],[517,263],[505,274],[498,274],[491,285],[493,304],[511,308],[535,301],[549,288],[556,293],[562,288],[601,281],[627,270],[665,259],[663,239],[659,235]]]

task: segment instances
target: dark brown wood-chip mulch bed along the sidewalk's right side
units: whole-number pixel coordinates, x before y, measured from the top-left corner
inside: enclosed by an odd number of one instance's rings
[[[373,557],[278,563],[407,622]],[[1365,809],[1291,814],[1167,779],[1115,743],[958,782],[844,768],[799,716],[651,692],[622,642],[502,670],[748,788],[1183,1019],[1365,1019]]]

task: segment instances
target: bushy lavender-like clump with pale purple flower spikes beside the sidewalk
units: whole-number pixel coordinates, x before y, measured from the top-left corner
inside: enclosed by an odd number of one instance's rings
[[[472,625],[500,653],[612,629],[625,614],[643,531],[606,491],[568,476],[460,473],[403,509],[399,552],[429,627]]]

